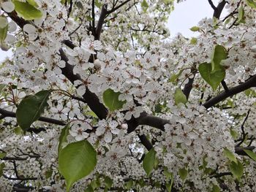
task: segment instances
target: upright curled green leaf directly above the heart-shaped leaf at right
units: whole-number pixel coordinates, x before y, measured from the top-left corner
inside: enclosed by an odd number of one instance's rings
[[[222,45],[215,45],[214,53],[211,55],[211,71],[224,70],[220,62],[227,58],[227,50]]]

